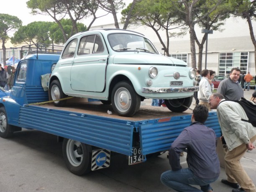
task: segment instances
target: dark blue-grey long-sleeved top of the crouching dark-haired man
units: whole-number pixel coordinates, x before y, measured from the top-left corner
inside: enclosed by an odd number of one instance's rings
[[[213,179],[220,174],[220,161],[216,153],[215,132],[198,122],[192,123],[179,134],[169,149],[172,170],[182,169],[180,153],[187,149],[187,164],[197,177]]]

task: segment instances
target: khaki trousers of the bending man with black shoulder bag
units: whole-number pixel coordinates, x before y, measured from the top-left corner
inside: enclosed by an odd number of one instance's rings
[[[256,136],[250,139],[251,143],[255,140]],[[246,192],[256,192],[255,185],[240,164],[240,159],[246,151],[246,144],[242,144],[232,151],[229,151],[228,147],[224,148],[225,172],[229,182],[238,183]]]

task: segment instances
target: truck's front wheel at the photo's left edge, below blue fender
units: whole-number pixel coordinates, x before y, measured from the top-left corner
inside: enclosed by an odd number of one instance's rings
[[[0,108],[0,137],[10,138],[11,136],[13,136],[13,129],[15,127],[16,126],[8,124],[5,108],[1,107]]]

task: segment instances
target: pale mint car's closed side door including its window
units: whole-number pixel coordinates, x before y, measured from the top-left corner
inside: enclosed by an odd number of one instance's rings
[[[108,50],[100,34],[80,38],[77,55],[71,69],[72,90],[102,92],[105,88],[105,70]]]

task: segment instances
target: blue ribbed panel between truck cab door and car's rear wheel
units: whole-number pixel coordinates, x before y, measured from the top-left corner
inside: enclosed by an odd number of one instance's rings
[[[28,104],[49,101],[48,92],[44,91],[42,86],[26,85],[25,92],[26,92]]]

